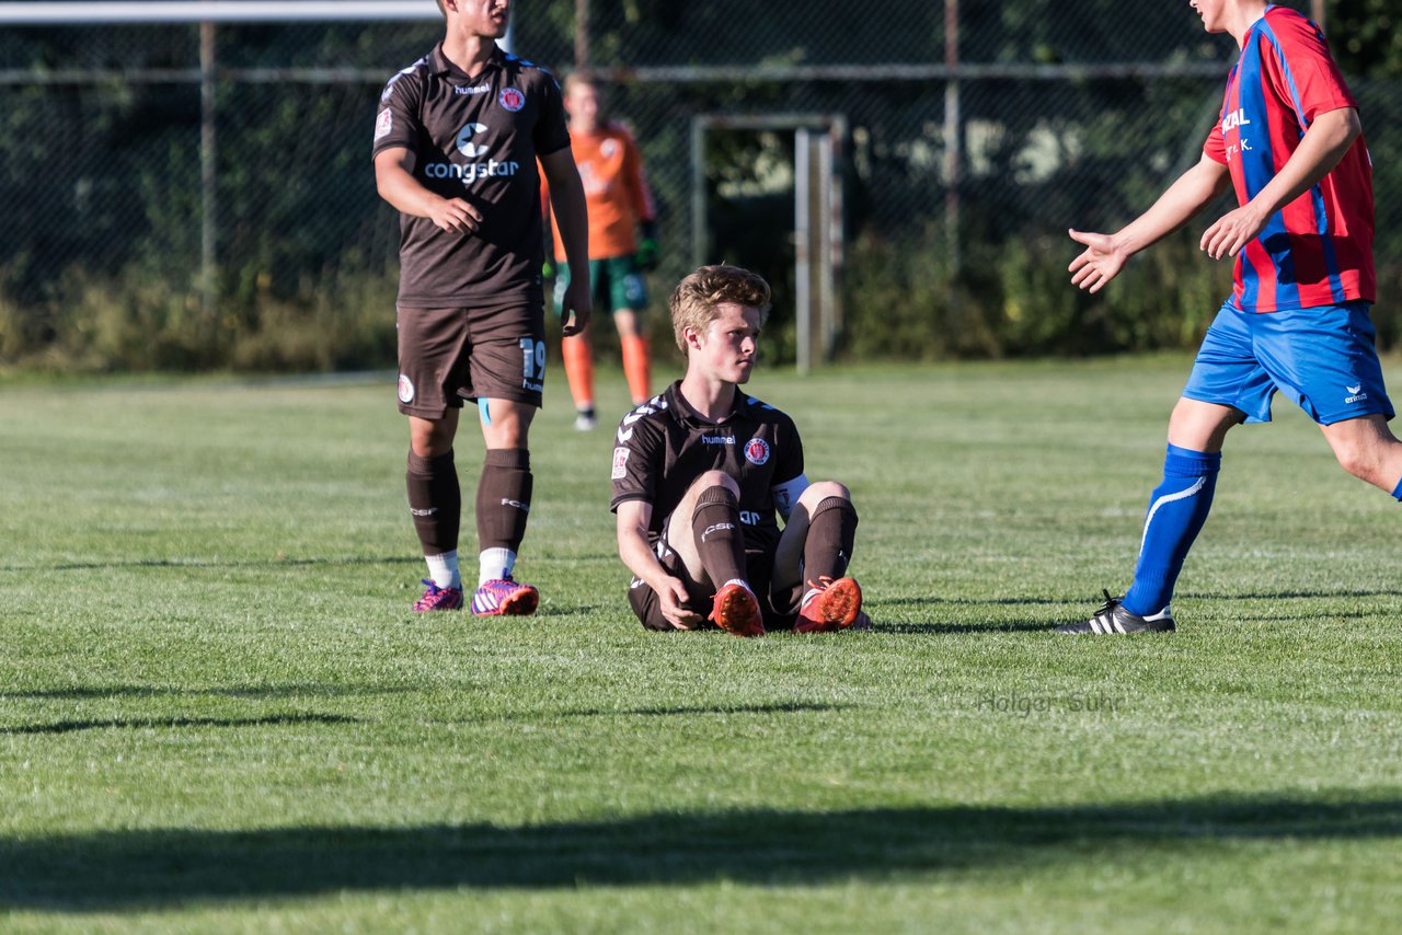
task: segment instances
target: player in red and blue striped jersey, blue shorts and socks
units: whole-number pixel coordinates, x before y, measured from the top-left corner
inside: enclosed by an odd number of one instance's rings
[[[1071,282],[1098,292],[1126,261],[1231,185],[1238,207],[1203,233],[1234,257],[1235,286],[1203,338],[1168,425],[1164,481],[1150,498],[1134,583],[1077,634],[1171,631],[1169,599],[1211,507],[1227,430],[1269,422],[1277,390],[1323,430],[1353,475],[1402,500],[1402,443],[1368,317],[1374,301],[1373,171],[1357,102],[1319,28],[1265,0],[1192,0],[1241,56],[1202,160],[1115,234],[1071,231]]]

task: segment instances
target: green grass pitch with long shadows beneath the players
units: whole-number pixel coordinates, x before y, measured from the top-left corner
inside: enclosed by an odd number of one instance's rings
[[[637,625],[562,380],[496,621],[408,611],[390,381],[6,384],[0,929],[1395,931],[1402,509],[1288,402],[1178,634],[1050,632],[1129,583],[1185,376],[761,370],[878,624],[761,641]]]

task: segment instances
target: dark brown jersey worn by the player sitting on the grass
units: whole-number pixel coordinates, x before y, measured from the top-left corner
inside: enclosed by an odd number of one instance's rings
[[[746,550],[780,540],[775,488],[803,474],[803,443],[794,419],[736,393],[735,412],[709,422],[681,398],[680,381],[622,418],[614,439],[613,502],[652,503],[648,538],[656,544],[687,488],[705,471],[725,471],[740,485]]]

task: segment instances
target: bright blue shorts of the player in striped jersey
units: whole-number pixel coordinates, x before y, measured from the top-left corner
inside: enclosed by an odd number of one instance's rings
[[[1270,422],[1283,391],[1319,425],[1364,415],[1392,418],[1374,346],[1371,304],[1350,301],[1256,314],[1223,304],[1193,362],[1183,395]]]

